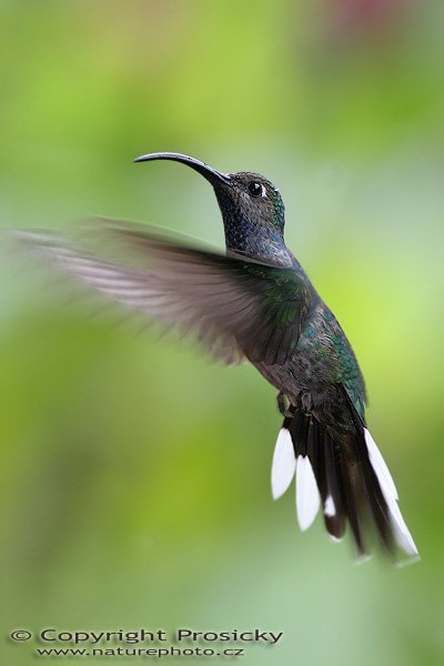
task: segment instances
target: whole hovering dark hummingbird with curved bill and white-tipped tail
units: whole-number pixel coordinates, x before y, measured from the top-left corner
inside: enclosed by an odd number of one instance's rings
[[[112,220],[97,224],[94,243],[48,231],[21,232],[21,239],[128,309],[193,333],[214,357],[254,365],[276,390],[283,416],[272,496],[281,497],[295,478],[302,531],[321,512],[333,541],[349,526],[359,559],[370,555],[374,541],[394,562],[416,558],[392,475],[366,426],[355,354],[285,244],[280,191],[259,173],[223,173],[175,152],[134,162],[155,160],[185,164],[212,185],[224,253]],[[112,256],[107,248],[115,249]]]

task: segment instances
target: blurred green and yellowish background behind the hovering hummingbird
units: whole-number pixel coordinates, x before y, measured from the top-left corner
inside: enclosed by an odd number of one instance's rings
[[[444,4],[2,0],[0,21],[1,224],[97,213],[222,246],[201,178],[132,158],[265,173],[360,359],[422,554],[357,567],[321,521],[302,535],[293,498],[271,500],[281,420],[253,369],[92,316],[9,256],[3,636],[261,627],[284,639],[242,664],[443,664]]]

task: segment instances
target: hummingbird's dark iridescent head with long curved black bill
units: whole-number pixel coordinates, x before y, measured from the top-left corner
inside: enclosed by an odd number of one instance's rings
[[[180,153],[150,153],[134,162],[174,160],[198,171],[212,185],[222,212],[226,249],[253,259],[287,263],[284,203],[279,190],[259,173],[221,173]]]

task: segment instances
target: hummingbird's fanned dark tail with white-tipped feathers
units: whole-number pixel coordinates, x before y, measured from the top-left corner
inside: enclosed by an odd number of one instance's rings
[[[397,506],[397,492],[389,467],[353,403],[346,398],[354,434],[341,441],[312,414],[292,407],[278,436],[272,465],[272,493],[276,500],[296,476],[296,512],[307,529],[322,505],[333,541],[350,524],[357,556],[369,555],[369,532],[397,559],[400,552],[417,557],[417,548]]]

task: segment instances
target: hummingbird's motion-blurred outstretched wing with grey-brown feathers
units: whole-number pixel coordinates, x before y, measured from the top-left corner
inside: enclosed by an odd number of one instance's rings
[[[297,343],[307,289],[290,269],[194,249],[130,223],[99,224],[75,242],[51,232],[18,235],[113,300],[194,332],[228,363],[246,356],[283,364]],[[110,250],[119,259],[101,258]]]

